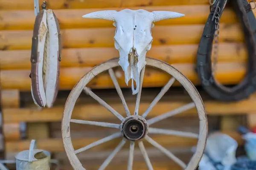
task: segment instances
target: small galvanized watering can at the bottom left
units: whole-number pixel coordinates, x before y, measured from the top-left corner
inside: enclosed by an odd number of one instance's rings
[[[50,153],[36,149],[32,140],[29,150],[23,150],[15,156],[16,170],[50,170]]]

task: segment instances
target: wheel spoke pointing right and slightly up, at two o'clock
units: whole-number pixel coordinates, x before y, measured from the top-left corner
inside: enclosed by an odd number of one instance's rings
[[[167,118],[169,118],[171,116],[177,115],[179,113],[182,113],[182,112],[187,111],[189,109],[192,109],[194,107],[195,107],[195,103],[194,102],[191,102],[189,104],[183,105],[183,106],[181,106],[181,107],[179,107],[179,108],[177,108],[177,109],[175,109],[173,111],[169,111],[169,112],[164,113],[164,114],[162,114],[160,116],[156,116],[156,117],[153,117],[151,119],[148,119],[147,120],[148,125],[152,125],[152,124],[154,124],[156,122],[159,122],[159,121],[161,121],[163,119],[167,119]]]

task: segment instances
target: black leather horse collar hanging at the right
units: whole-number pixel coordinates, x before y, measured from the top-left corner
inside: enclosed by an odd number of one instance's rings
[[[248,51],[247,73],[244,80],[232,88],[218,83],[212,74],[212,41],[215,33],[216,8],[219,10],[219,18],[225,8],[227,0],[216,0],[211,8],[202,34],[198,53],[196,71],[201,84],[207,93],[221,101],[238,101],[245,99],[256,91],[256,19],[250,3],[247,0],[230,0],[244,31],[245,44]]]

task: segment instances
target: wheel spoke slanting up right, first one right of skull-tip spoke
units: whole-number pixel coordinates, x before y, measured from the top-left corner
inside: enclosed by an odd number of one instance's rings
[[[175,82],[175,78],[172,77],[167,83],[166,85],[161,89],[161,91],[159,92],[159,94],[157,94],[157,96],[154,98],[154,100],[150,103],[149,107],[147,108],[147,110],[142,114],[142,117],[145,118],[148,113],[152,110],[152,108],[157,104],[157,102],[163,97],[164,94],[166,94],[166,92],[169,90],[169,88],[172,86],[172,84]]]

